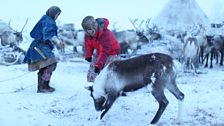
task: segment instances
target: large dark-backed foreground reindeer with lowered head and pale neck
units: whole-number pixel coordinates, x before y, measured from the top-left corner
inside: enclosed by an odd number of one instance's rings
[[[94,85],[87,89],[93,98],[95,109],[103,111],[100,116],[102,119],[120,94],[146,87],[150,83],[152,95],[159,103],[151,121],[151,124],[155,124],[169,103],[164,94],[165,88],[179,101],[184,100],[184,94],[176,85],[173,59],[169,55],[152,53],[112,62],[102,70]]]

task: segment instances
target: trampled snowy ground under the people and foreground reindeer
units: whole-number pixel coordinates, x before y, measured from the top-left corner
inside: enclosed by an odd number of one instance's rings
[[[0,66],[0,126],[149,126],[158,104],[148,91],[120,97],[100,122],[84,89],[88,63],[60,62],[52,76],[52,94],[36,93],[37,73],[26,65]],[[224,67],[180,73],[185,94],[184,126],[224,126]],[[169,105],[157,126],[175,126],[178,102],[167,90]]]

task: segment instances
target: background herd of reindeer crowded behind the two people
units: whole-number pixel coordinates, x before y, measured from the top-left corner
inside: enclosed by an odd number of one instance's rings
[[[213,34],[208,34],[207,32],[208,29],[211,31],[222,29],[222,27],[205,28],[202,24],[198,24],[185,31],[165,31],[159,28],[159,26],[152,24],[151,19],[146,21],[129,19],[129,21],[133,25],[133,29],[117,30],[116,24],[112,25],[112,32],[121,46],[122,57],[141,54],[139,51],[144,46],[151,47],[148,49],[148,53],[153,51],[159,52],[160,50],[155,50],[155,47],[166,46],[169,54],[184,64],[185,71],[193,70],[197,73],[197,68],[201,64],[204,64],[204,67],[212,68],[214,59],[216,59],[216,63],[219,62],[220,65],[223,65],[224,36],[222,32],[213,32]],[[1,61],[4,61],[2,64],[5,65],[21,63],[18,61],[21,56],[18,56],[18,54],[13,56],[13,53],[10,53],[10,51],[19,50],[18,52],[22,52],[20,55],[25,53],[18,45],[23,41],[22,32],[28,19],[19,32],[10,26],[10,22],[7,24],[0,21]],[[193,31],[192,29],[196,30]],[[76,30],[72,23],[63,24],[59,26],[58,35],[65,42],[65,48],[70,48],[69,52],[79,54],[78,56],[84,55],[83,30]]]

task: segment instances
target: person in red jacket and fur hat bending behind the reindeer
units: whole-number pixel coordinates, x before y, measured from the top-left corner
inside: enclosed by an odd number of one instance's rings
[[[86,61],[90,62],[87,81],[94,82],[100,71],[114,60],[119,59],[120,45],[107,28],[109,20],[86,16],[82,21],[85,31]]]

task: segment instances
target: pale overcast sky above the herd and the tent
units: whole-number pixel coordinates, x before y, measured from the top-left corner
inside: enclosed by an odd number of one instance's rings
[[[29,18],[26,29],[30,30],[46,10],[57,5],[62,13],[58,18],[61,24],[75,23],[77,29],[87,15],[106,17],[111,24],[116,23],[117,28],[131,26],[128,18],[153,18],[169,0],[0,0],[0,18],[12,27],[21,29],[26,18]],[[196,0],[208,17],[212,13],[221,13],[213,6],[223,5],[224,0]],[[205,2],[206,1],[206,2]],[[218,10],[218,11],[217,11]]]

